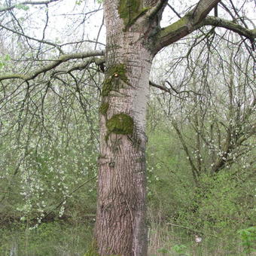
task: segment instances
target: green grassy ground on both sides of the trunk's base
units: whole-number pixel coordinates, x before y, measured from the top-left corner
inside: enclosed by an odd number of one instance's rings
[[[150,212],[148,256],[255,255],[253,242],[243,245],[239,232],[224,230],[213,236],[214,230],[203,230],[203,242],[198,245],[193,230],[151,221]],[[26,224],[11,224],[0,230],[0,255],[10,256],[12,251],[14,256],[84,256],[90,247],[92,234],[92,222],[53,221],[35,229],[29,229]]]

